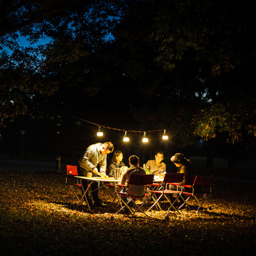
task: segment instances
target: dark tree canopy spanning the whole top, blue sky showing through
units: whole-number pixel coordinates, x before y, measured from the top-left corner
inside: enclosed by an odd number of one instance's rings
[[[69,86],[120,92],[143,125],[182,145],[254,145],[255,19],[238,1],[1,1],[1,118]],[[17,45],[26,36],[38,47]],[[8,47],[12,53],[6,50]],[[40,58],[38,58],[40,54]]]

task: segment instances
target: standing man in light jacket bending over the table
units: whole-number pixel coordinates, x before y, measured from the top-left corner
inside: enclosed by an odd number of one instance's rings
[[[108,141],[104,144],[96,143],[90,145],[83,152],[82,156],[78,160],[77,164],[77,173],[79,176],[87,177],[87,173],[92,173],[93,177],[106,177],[106,166],[107,166],[107,154],[113,152],[114,146]],[[98,170],[97,166],[100,166],[100,170]],[[83,188],[86,189],[88,186],[87,180],[82,180]],[[92,182],[92,197],[94,200],[94,206],[100,207],[103,206],[99,199],[99,191],[98,191],[98,182]],[[88,191],[86,193],[86,197],[88,198],[89,204],[92,204],[92,200],[88,196]]]

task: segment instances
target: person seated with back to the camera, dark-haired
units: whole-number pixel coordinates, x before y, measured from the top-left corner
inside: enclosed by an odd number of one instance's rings
[[[131,174],[136,174],[136,175],[146,174],[145,170],[139,166],[140,159],[138,156],[130,156],[129,164],[130,164],[130,167],[122,175],[122,178],[121,178],[122,185],[125,185],[128,183]],[[145,193],[144,185],[130,185],[129,189],[131,189],[132,195],[134,196],[143,196]]]

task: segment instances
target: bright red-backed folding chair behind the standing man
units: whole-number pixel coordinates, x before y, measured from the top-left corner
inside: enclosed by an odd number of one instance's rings
[[[79,196],[79,194],[82,193],[82,186],[79,182],[79,179],[75,177],[77,175],[77,166],[67,165],[65,185],[67,185],[70,188],[70,191],[72,191],[73,196],[69,198],[66,202],[72,200],[73,198],[77,198],[79,202],[81,200],[81,196]]]

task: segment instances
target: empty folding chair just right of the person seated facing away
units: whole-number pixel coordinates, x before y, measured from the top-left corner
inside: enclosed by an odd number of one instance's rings
[[[178,190],[178,186],[181,185],[183,179],[183,173],[165,173],[163,182],[159,185],[158,190],[152,190],[152,199],[154,201],[154,204],[150,206],[148,211],[152,209],[154,206],[158,206],[159,209],[162,211],[161,206],[159,204],[159,200],[164,196],[164,198],[167,199],[168,203],[170,204],[170,207],[168,208],[168,212],[171,208],[174,209],[174,211],[178,211],[178,209],[173,205],[180,197],[182,191]],[[169,189],[169,185],[175,185],[177,186],[177,189]],[[180,187],[182,190],[182,187]],[[176,198],[173,202],[171,202],[169,196],[176,194]]]

